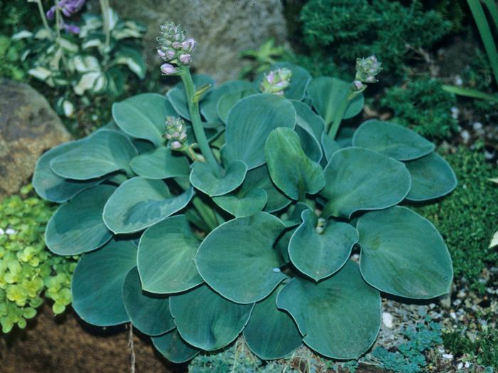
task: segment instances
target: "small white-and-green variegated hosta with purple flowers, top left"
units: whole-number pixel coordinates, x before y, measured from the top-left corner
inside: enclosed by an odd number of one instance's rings
[[[100,0],[101,15],[85,12],[80,21],[68,19],[83,9],[85,0],[58,0],[46,12],[41,0],[28,2],[37,4],[43,27],[12,38],[26,43],[21,62],[29,75],[65,90],[57,103],[60,114],[71,117],[78,99],[90,102],[95,94],[122,94],[129,72],[145,77],[137,42],[145,26],[120,18],[109,0]]]

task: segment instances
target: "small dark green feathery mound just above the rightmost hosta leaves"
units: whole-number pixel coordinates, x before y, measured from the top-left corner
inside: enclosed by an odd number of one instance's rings
[[[428,139],[444,139],[457,129],[451,108],[455,97],[438,80],[420,77],[386,90],[381,104],[392,109],[396,121]]]

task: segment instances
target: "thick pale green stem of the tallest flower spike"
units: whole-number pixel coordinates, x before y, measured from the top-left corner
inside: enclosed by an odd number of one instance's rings
[[[199,114],[199,104],[194,99],[195,95],[195,87],[194,81],[192,80],[192,75],[190,74],[189,66],[181,65],[180,66],[180,76],[181,80],[184,82],[185,93],[187,104],[189,106],[190,119],[192,121],[192,128],[194,129],[194,135],[196,136],[196,141],[201,149],[201,153],[211,166],[211,169],[216,175],[220,175],[221,169],[220,165],[214,158],[213,151],[211,151],[211,147],[209,146],[208,139],[206,139],[206,134],[204,133],[204,129],[201,122],[201,114]]]

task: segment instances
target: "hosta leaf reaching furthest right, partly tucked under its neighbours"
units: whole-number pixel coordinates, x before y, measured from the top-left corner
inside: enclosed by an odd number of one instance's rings
[[[447,195],[457,187],[457,177],[451,166],[438,153],[406,163],[411,175],[407,200],[425,201]]]

